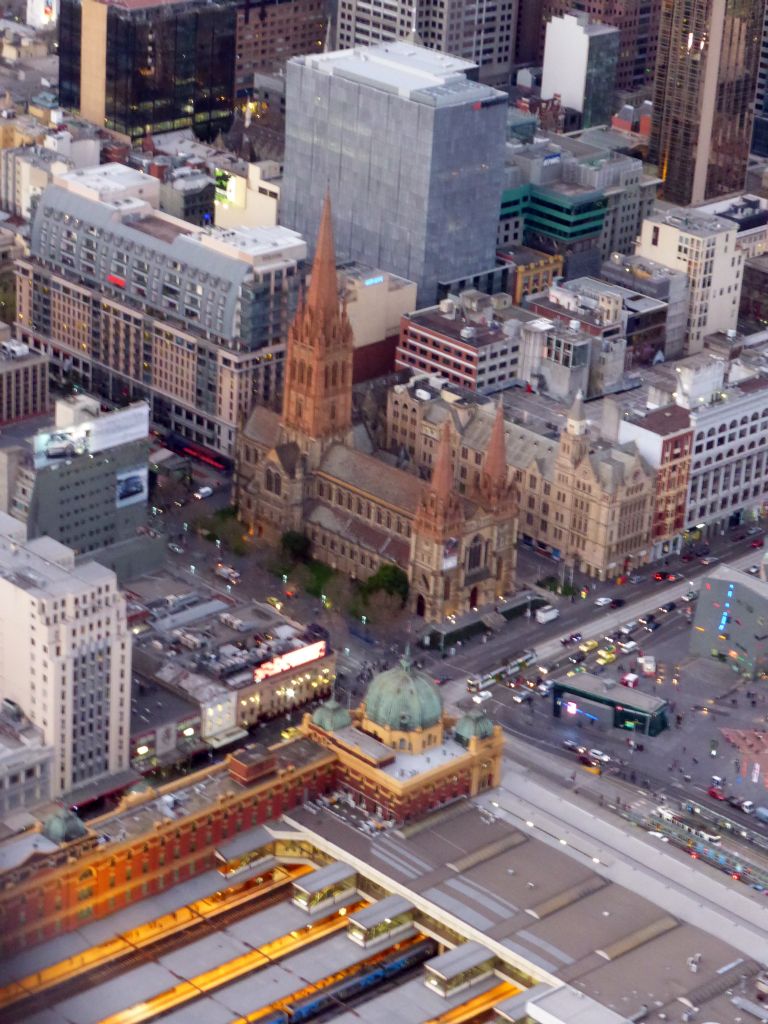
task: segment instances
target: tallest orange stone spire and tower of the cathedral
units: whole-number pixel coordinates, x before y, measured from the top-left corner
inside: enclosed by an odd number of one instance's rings
[[[288,331],[283,431],[299,447],[342,440],[352,423],[352,329],[340,307],[331,200],[323,205],[309,288]]]

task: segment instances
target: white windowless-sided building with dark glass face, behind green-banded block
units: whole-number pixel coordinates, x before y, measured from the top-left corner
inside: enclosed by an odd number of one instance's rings
[[[547,25],[542,97],[558,96],[579,111],[582,127],[610,123],[615,108],[620,33],[582,11],[555,15]]]

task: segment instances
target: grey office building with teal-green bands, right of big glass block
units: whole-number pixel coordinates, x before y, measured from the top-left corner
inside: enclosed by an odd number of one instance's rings
[[[566,278],[596,274],[611,252],[631,252],[655,201],[640,160],[544,135],[507,145],[500,240],[560,255]]]

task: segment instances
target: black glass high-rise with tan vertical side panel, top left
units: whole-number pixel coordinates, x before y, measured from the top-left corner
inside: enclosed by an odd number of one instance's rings
[[[228,0],[61,0],[61,105],[132,139],[226,130],[234,54]]]

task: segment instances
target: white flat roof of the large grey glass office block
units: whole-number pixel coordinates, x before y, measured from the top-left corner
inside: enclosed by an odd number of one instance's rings
[[[507,95],[467,78],[471,60],[402,41],[294,57],[325,75],[345,78],[430,106],[478,100],[505,102]]]

